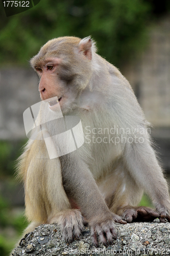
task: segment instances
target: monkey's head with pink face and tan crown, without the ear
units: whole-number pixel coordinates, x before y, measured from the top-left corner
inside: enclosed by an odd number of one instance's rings
[[[53,39],[47,42],[31,60],[40,78],[41,100],[57,96],[57,100],[49,101],[49,107],[55,111],[60,104],[64,114],[76,108],[77,99],[87,87],[92,74],[91,58],[86,56],[87,50],[82,50],[80,39],[69,38],[72,40],[69,48],[67,40]]]

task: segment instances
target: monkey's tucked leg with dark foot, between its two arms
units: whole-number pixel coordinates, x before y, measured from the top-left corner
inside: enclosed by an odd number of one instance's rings
[[[99,183],[99,188],[105,195],[109,209],[122,216],[126,222],[153,221],[159,217],[158,212],[151,208],[135,207],[141,200],[143,189],[136,184],[122,163],[114,172],[106,176],[103,184]]]

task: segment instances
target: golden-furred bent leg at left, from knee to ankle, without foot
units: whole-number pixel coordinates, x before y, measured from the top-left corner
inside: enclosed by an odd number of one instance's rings
[[[25,175],[26,216],[30,222],[49,223],[70,204],[62,185],[59,158],[49,159],[44,142],[35,140],[30,148]]]

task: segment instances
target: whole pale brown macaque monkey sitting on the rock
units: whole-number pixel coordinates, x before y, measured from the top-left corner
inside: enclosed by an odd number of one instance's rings
[[[38,135],[29,140],[18,164],[31,222],[25,232],[57,223],[71,242],[88,223],[92,243],[99,246],[116,239],[115,222],[170,222],[167,183],[151,146],[149,123],[129,82],[96,53],[95,42],[52,39],[31,66],[39,76],[41,100],[49,101],[37,117],[44,131],[52,136],[60,127],[59,119],[45,123],[60,107],[63,116],[80,118],[85,141],[76,151],[50,159],[44,140]],[[54,97],[58,100],[50,100]],[[51,138],[55,149],[57,139]],[[143,192],[155,210],[137,206]]]

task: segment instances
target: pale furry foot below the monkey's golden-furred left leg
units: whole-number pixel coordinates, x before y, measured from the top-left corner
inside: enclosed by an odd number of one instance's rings
[[[71,243],[74,239],[80,239],[83,231],[83,217],[77,209],[60,212],[51,223],[57,223],[60,227],[63,239]]]

